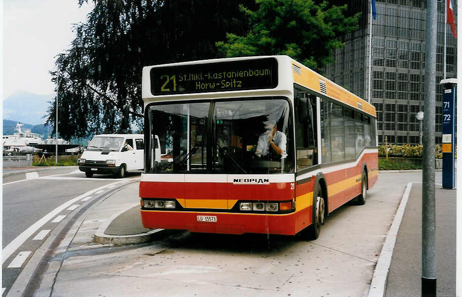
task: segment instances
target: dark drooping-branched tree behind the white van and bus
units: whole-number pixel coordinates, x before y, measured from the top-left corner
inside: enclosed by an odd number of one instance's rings
[[[82,5],[88,0],[79,0]],[[237,3],[221,0],[93,0],[86,23],[75,25],[66,55],[51,71],[57,96],[48,121],[64,139],[114,133],[129,122],[143,125],[142,67],[216,58],[227,31],[247,31]],[[241,1],[254,7],[252,0]],[[54,132],[55,133],[55,132]]]

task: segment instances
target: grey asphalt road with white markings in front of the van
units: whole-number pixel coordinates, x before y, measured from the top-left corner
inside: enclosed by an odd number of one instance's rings
[[[139,177],[139,173],[131,174],[129,177]],[[8,292],[30,256],[50,236],[59,222],[67,215],[75,213],[75,209],[89,200],[82,199],[90,197],[81,196],[114,182],[120,182],[120,179],[114,179],[112,175],[86,178],[85,173],[76,167],[29,172],[3,178],[4,293]],[[66,205],[76,197],[81,199]]]

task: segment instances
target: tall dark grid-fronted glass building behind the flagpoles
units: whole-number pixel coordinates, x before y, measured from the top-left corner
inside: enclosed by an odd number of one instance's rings
[[[457,1],[451,2],[457,24]],[[362,13],[360,27],[342,36],[345,46],[335,50],[334,63],[325,69],[326,77],[368,100],[370,0],[346,3],[349,14]],[[425,0],[376,0],[377,16],[372,20],[370,102],[377,110],[379,144],[385,142],[386,136],[391,144],[418,144],[420,141],[420,123],[416,114],[424,110],[426,4]],[[457,65],[457,40],[449,25],[445,24],[444,5],[444,1],[438,2],[437,144],[441,144],[442,130],[443,86],[440,81],[443,79],[445,25],[446,78],[456,77]]]

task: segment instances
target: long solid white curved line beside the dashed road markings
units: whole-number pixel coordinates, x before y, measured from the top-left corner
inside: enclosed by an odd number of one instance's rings
[[[117,182],[114,182],[114,183],[120,183],[120,182],[121,181],[117,181]],[[5,184],[3,184],[3,185],[5,185]],[[44,226],[46,224],[46,222],[48,222],[50,219],[52,219],[56,214],[61,212],[66,207],[69,207],[74,202],[79,201],[82,198],[87,197],[88,195],[93,194],[94,192],[99,191],[99,190],[101,190],[102,188],[105,188],[105,187],[106,187],[106,185],[104,185],[103,187],[99,187],[99,188],[93,189],[91,191],[88,191],[87,193],[82,194],[82,195],[80,195],[78,197],[75,197],[75,198],[61,204],[60,206],[56,207],[51,212],[49,212],[47,215],[45,215],[41,219],[37,220],[32,226],[30,226],[29,228],[24,230],[21,234],[18,235],[18,237],[13,239],[13,241],[11,241],[2,250],[2,264],[5,263],[5,261],[21,246],[21,244],[23,244],[27,240],[27,238],[29,238],[38,229],[40,229],[42,226]]]

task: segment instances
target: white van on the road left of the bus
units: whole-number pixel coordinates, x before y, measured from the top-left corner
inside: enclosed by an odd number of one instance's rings
[[[156,142],[157,146],[160,147],[157,135]],[[84,171],[87,177],[92,177],[95,173],[113,173],[124,178],[127,171],[143,170],[144,135],[96,135],[88,144],[78,163],[80,171]]]

